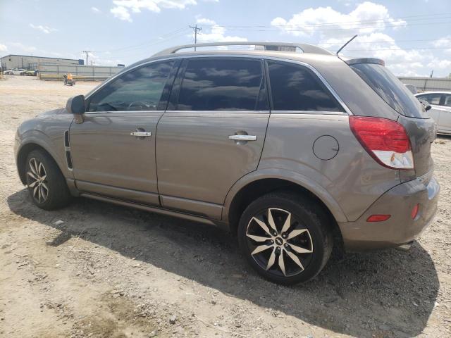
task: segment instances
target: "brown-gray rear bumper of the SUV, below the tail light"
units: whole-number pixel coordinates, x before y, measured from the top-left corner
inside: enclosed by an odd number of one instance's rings
[[[338,223],[347,251],[394,248],[412,242],[431,223],[437,211],[440,185],[431,177],[405,182],[385,192],[354,222]],[[412,209],[419,212],[412,219]],[[370,215],[391,215],[383,222],[366,222]]]

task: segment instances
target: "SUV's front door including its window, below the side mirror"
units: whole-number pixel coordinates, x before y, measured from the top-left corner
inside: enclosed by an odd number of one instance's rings
[[[89,96],[84,121],[70,125],[73,174],[81,192],[159,205],[156,125],[177,66],[177,61],[142,65]]]

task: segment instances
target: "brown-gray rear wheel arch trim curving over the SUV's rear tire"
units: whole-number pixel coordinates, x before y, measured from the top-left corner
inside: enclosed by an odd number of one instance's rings
[[[290,170],[259,170],[238,180],[226,196],[223,207],[223,220],[228,223],[230,231],[235,234],[240,215],[245,208],[259,196],[277,190],[285,190],[302,194],[314,199],[330,216],[333,230],[338,230],[338,222],[346,222],[347,218],[339,204],[330,194],[315,182],[311,182],[299,173]]]

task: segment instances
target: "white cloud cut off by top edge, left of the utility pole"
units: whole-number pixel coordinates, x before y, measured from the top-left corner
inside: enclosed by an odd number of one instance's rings
[[[118,19],[132,22],[130,12],[141,13],[142,9],[159,13],[161,8],[184,9],[189,5],[197,5],[196,0],[113,0],[114,7],[110,12]]]

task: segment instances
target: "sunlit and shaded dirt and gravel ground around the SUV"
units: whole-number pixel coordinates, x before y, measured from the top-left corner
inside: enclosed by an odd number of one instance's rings
[[[18,125],[94,83],[0,80],[0,337],[451,337],[451,138],[438,215],[407,252],[334,257],[311,282],[258,277],[214,227],[78,199],[30,201]]]

